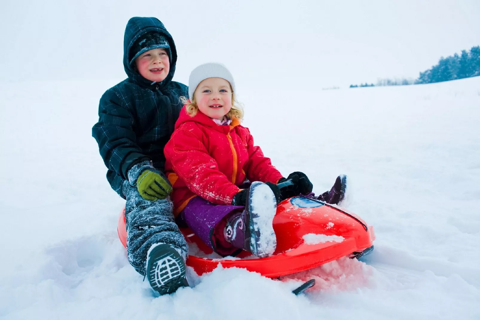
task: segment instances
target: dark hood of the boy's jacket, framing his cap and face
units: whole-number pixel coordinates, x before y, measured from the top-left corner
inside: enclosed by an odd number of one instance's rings
[[[133,68],[133,65],[130,65],[129,63],[130,49],[135,41],[139,37],[142,37],[144,34],[151,31],[156,31],[167,39],[171,53],[170,71],[168,72],[167,77],[162,82],[155,84],[152,84],[152,81],[145,79],[142,75],[140,75]],[[175,42],[173,42],[172,36],[168,33],[167,29],[160,20],[154,17],[133,17],[128,21],[125,28],[125,36],[123,37],[123,68],[125,69],[125,73],[129,79],[141,86],[158,86],[161,89],[171,82],[173,74],[175,74],[176,63],[177,49],[175,47]]]

